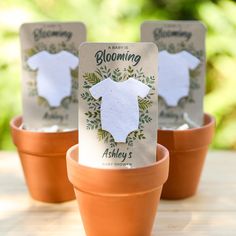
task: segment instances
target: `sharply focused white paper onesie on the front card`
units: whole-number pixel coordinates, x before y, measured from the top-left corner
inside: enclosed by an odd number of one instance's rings
[[[102,97],[102,129],[111,133],[115,142],[126,142],[128,134],[138,129],[138,96],[146,97],[149,90],[147,85],[133,78],[123,82],[107,78],[89,89],[95,99]]]

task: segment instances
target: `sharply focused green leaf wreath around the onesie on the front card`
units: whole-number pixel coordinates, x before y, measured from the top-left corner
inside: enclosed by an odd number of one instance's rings
[[[95,84],[99,83],[105,78],[110,77],[116,82],[125,81],[130,77],[136,78],[142,83],[148,85],[151,89],[149,94],[144,98],[138,98],[139,102],[139,129],[131,132],[127,139],[126,143],[128,146],[133,146],[135,140],[146,139],[144,134],[144,127],[146,124],[152,121],[152,118],[149,114],[149,108],[153,104],[153,96],[155,96],[155,77],[154,76],[145,76],[143,69],[134,69],[132,66],[124,68],[122,71],[119,68],[111,70],[106,66],[101,66],[96,69],[95,72],[85,73],[83,75],[84,82],[82,85],[83,93],[81,98],[86,101],[88,105],[88,111],[86,115],[86,128],[88,130],[97,130],[97,137],[99,141],[104,141],[104,143],[109,143],[110,147],[117,146],[117,143],[114,141],[113,136],[101,129],[101,120],[100,120],[100,105],[101,99],[95,100],[89,92],[89,89]]]

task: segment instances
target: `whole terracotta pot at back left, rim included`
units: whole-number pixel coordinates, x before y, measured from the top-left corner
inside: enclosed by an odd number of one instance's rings
[[[67,177],[66,151],[78,143],[78,131],[33,132],[20,129],[21,124],[22,117],[13,118],[11,134],[32,198],[51,203],[75,199]]]

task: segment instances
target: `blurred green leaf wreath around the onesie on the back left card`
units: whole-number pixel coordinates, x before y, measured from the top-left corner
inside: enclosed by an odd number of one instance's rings
[[[23,68],[26,71],[33,73],[33,76],[31,76],[30,81],[27,82],[27,85],[29,88],[28,95],[30,97],[37,97],[37,103],[39,106],[43,106],[45,108],[54,109],[54,110],[62,107],[64,109],[68,110],[69,105],[71,103],[78,103],[78,94],[77,94],[78,93],[78,67],[75,68],[74,70],[71,70],[71,77],[72,77],[71,96],[65,97],[61,101],[61,105],[58,108],[52,108],[52,107],[50,107],[48,101],[45,98],[40,97],[38,95],[37,80],[36,80],[37,71],[32,71],[26,63],[28,58],[30,58],[31,56],[33,56],[41,51],[47,51],[47,52],[53,54],[53,53],[58,53],[62,50],[68,51],[68,52],[74,54],[75,56],[78,56],[77,47],[73,43],[66,44],[65,42],[61,42],[58,44],[53,44],[53,43],[46,44],[46,43],[40,42],[40,43],[37,43],[34,48],[30,48],[30,49],[24,51]]]

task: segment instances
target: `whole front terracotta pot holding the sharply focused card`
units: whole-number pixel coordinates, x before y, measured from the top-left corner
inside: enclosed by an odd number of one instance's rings
[[[97,169],[78,163],[78,145],[67,152],[67,169],[87,236],[149,236],[163,183],[168,150],[157,162],[134,169]]]

